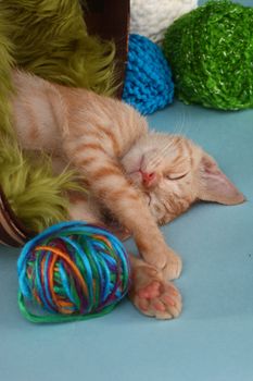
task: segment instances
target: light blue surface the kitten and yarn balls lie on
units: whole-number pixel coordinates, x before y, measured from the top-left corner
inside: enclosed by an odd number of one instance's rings
[[[184,311],[173,321],[146,318],[125,300],[101,319],[34,325],[17,308],[18,250],[1,247],[1,380],[253,380],[253,110],[176,102],[150,122],[202,145],[248,202],[200,204],[163,229],[185,265],[176,282]]]

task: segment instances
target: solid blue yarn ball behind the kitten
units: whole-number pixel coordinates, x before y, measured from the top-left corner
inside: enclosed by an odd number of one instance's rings
[[[123,100],[146,115],[172,103],[173,97],[172,72],[160,47],[130,35]]]

